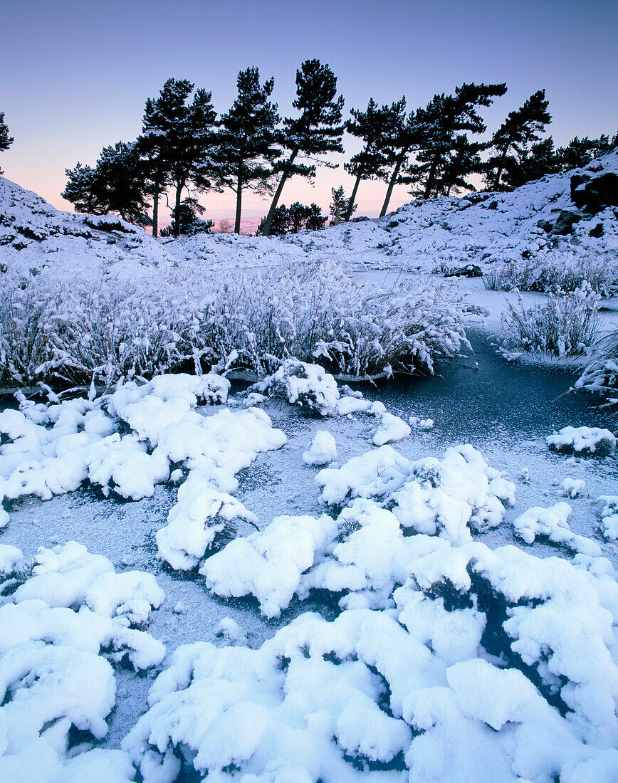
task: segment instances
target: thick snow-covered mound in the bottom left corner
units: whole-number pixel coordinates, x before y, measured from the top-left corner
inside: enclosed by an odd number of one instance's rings
[[[154,576],[114,572],[107,557],[71,541],[41,548],[18,581],[0,598],[0,778],[132,780],[124,752],[92,742],[107,734],[116,701],[110,662],[147,669],[164,658],[164,645],[140,630],[164,598]],[[77,756],[75,730],[85,732]]]

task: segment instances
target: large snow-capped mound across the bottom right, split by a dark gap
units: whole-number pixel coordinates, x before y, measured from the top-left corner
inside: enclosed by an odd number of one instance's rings
[[[123,742],[144,781],[607,779],[611,565],[424,535],[401,548],[386,610],[305,613],[256,650],[179,648]]]

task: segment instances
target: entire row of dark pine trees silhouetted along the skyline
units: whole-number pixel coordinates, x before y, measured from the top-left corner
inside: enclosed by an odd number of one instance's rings
[[[241,70],[237,98],[218,116],[211,92],[169,78],[159,96],[146,100],[138,138],[104,147],[94,167],[78,162],[67,169],[63,198],[77,211],[116,212],[140,226],[152,225],[157,236],[161,197],[171,193],[168,233],[179,236],[211,228],[200,217],[204,209],[197,196],[225,188],[236,193],[234,231],[240,233],[243,194],[252,190],[272,197],[258,229],[267,236],[326,222],[316,204],[285,207],[279,202],[292,177],[312,180],[319,165],[336,168],[325,156],[343,153],[344,132],[362,147],[344,164],[354,178],[350,197],[342,188],[332,191],[334,223],[352,217],[360,183],[370,179],[386,184],[383,216],[396,185],[409,186],[410,194],[422,199],[475,190],[472,175],[482,175],[486,189],[514,189],[583,166],[618,145],[618,134],[613,139],[576,137],[558,148],[551,136],[542,138],[551,123],[544,90],[534,92],[488,141],[481,141],[486,133],[481,111],[507,92],[504,83],[464,83],[416,110],[407,110],[405,96],[381,106],[371,98],[366,109],[352,108],[345,121],[337,78],[320,60],[305,60],[296,71],[294,117],[280,117],[271,100],[273,86],[273,78],[261,81],[257,67]],[[0,150],[12,140],[0,114]]]

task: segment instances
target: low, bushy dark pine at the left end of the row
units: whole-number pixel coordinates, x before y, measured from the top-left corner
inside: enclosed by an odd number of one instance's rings
[[[103,147],[96,167],[78,163],[65,170],[68,182],[61,194],[78,212],[110,212],[137,226],[148,226],[143,168],[136,143],[117,142]]]

